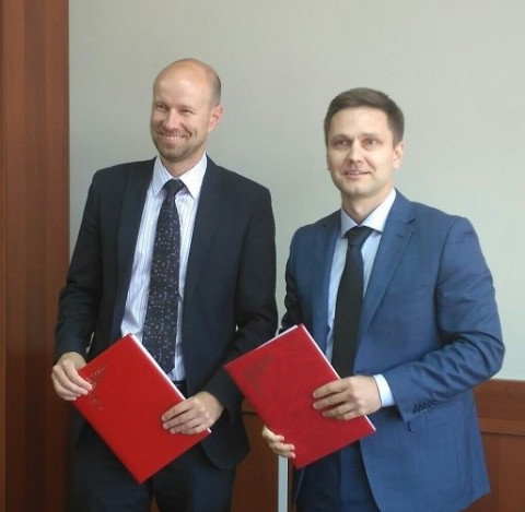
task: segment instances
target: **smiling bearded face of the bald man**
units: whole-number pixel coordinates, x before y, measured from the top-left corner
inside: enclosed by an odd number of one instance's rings
[[[201,158],[208,133],[222,116],[222,107],[214,103],[210,72],[197,62],[175,62],[156,78],[150,131],[173,176],[186,172]]]

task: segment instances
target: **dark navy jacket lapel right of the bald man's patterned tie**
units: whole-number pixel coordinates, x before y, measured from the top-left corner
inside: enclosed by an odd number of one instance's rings
[[[209,245],[215,233],[215,225],[220,218],[224,201],[222,175],[217,165],[208,157],[202,188],[200,190],[199,206],[195,218],[194,235],[189,250],[188,267],[184,295],[189,299],[195,290],[198,275],[206,260]]]

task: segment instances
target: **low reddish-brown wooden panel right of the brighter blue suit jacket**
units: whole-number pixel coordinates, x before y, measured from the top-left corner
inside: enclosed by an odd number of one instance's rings
[[[476,403],[492,492],[469,512],[525,510],[525,381],[490,380]]]

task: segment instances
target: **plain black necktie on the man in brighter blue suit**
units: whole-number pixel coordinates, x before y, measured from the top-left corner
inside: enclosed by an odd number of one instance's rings
[[[357,349],[361,307],[363,303],[363,257],[361,247],[372,229],[355,226],[346,234],[347,260],[337,291],[334,318],[334,352],[331,365],[340,377],[352,372]]]

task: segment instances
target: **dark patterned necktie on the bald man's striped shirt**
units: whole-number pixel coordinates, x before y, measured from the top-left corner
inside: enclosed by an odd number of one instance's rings
[[[144,347],[166,373],[174,368],[177,336],[180,225],[175,197],[183,187],[178,179],[164,183],[166,197],[156,222],[142,336]]]

